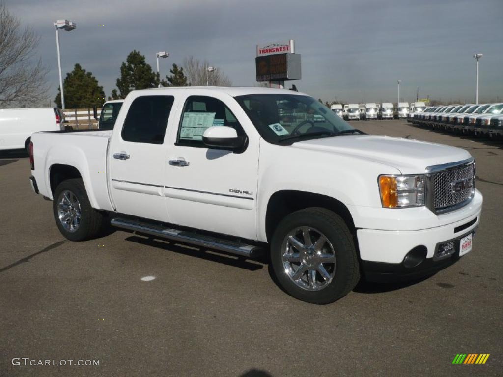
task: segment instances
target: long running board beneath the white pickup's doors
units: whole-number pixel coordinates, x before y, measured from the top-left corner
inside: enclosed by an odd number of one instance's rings
[[[110,224],[117,228],[128,229],[139,233],[150,234],[160,238],[168,238],[174,241],[186,242],[193,245],[225,251],[231,254],[241,255],[248,258],[256,258],[262,255],[262,249],[258,246],[248,245],[241,242],[229,241],[217,237],[206,236],[185,230],[165,228],[146,222],[133,221],[123,218],[114,218]]]

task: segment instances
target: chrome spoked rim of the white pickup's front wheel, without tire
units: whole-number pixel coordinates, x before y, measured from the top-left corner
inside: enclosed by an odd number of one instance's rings
[[[336,253],[328,238],[311,227],[290,231],[282,245],[285,273],[300,288],[319,291],[336,273]]]

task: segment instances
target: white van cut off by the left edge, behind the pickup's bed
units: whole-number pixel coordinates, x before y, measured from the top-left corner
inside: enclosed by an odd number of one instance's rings
[[[58,108],[0,109],[0,150],[29,152],[33,132],[62,129],[63,112]]]

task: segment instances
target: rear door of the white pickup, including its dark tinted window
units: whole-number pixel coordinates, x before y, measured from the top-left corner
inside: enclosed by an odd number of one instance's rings
[[[165,211],[163,177],[164,136],[172,123],[175,97],[139,96],[132,100],[122,128],[116,128],[109,147],[110,191],[117,212],[170,222]]]

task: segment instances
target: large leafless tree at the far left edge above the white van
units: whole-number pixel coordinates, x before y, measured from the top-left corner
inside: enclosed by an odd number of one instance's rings
[[[46,97],[47,69],[40,59],[31,62],[38,42],[0,3],[0,108],[39,104]]]

